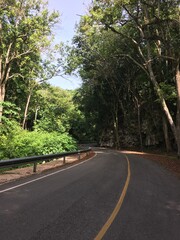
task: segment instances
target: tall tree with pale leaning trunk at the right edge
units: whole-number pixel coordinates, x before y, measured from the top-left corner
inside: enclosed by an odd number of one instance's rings
[[[86,17],[89,25],[111,30],[129,42],[121,53],[141,68],[151,81],[170,124],[180,156],[179,1],[98,0]],[[136,57],[134,57],[136,56]],[[176,118],[161,83],[176,89]]]

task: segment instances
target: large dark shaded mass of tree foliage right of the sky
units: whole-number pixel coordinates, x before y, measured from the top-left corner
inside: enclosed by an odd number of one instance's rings
[[[78,69],[83,79],[79,110],[98,139],[116,144],[128,133],[136,144],[157,144],[163,141],[162,109],[175,122],[178,12],[173,0],[98,0],[81,18],[69,71]]]

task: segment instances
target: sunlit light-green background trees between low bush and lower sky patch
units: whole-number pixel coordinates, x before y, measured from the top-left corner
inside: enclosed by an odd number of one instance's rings
[[[39,111],[34,128],[37,131],[68,132],[70,118],[75,111],[72,101],[73,92],[45,84],[37,94]]]

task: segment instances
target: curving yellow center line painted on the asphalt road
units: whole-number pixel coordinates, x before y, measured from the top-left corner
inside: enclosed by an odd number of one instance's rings
[[[111,226],[111,224],[113,223],[115,217],[117,216],[121,205],[123,203],[124,197],[126,195],[127,189],[128,189],[128,185],[130,182],[130,177],[131,177],[131,170],[130,170],[130,162],[128,157],[125,155],[126,160],[127,160],[127,164],[128,164],[128,173],[127,173],[127,178],[126,178],[126,182],[123,188],[123,191],[121,193],[121,196],[119,198],[118,203],[116,204],[113,212],[111,213],[110,217],[108,218],[108,220],[106,221],[106,223],[104,224],[104,226],[101,228],[100,232],[97,234],[97,236],[94,238],[94,240],[101,240],[103,238],[103,236],[105,235],[105,233],[107,232],[107,230],[109,229],[109,227]]]

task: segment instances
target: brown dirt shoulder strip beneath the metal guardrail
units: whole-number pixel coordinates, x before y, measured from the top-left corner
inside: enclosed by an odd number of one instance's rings
[[[94,152],[90,152],[87,156],[86,156],[86,153],[82,153],[80,156],[80,159],[78,158],[78,155],[69,156],[69,157],[66,157],[65,164],[63,164],[63,158],[59,158],[50,162],[44,162],[42,164],[37,165],[36,173],[33,173],[33,166],[3,171],[2,173],[0,173],[0,185],[6,182],[17,180],[19,178],[28,177],[30,175],[41,174],[45,171],[49,171],[55,168],[60,168],[65,165],[70,165],[70,164],[72,165],[77,162],[87,160],[93,157],[94,155],[95,155]]]

